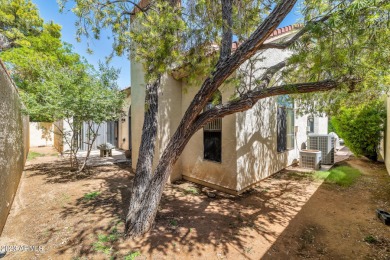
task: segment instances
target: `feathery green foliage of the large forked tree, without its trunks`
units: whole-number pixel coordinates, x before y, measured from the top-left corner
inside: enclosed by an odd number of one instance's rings
[[[67,2],[61,1],[62,9]],[[99,38],[103,29],[110,29],[113,51],[118,55],[131,53],[144,64],[149,79],[184,65],[190,78],[200,73],[210,75],[218,61],[218,57],[210,59],[210,52],[213,46],[222,48],[224,29],[229,26],[234,38],[244,42],[278,3],[232,0],[231,24],[227,25],[221,1],[138,2],[75,1],[72,11],[79,17],[79,36]],[[348,82],[340,84],[339,97],[334,92],[300,96],[307,108],[326,110],[326,104],[338,104],[350,92],[363,93],[354,99],[366,95],[374,99],[390,83],[389,10],[385,0],[300,1],[301,32],[288,43],[269,44],[262,49],[294,51],[279,78],[286,83],[329,79]],[[239,81],[236,83],[240,86]],[[315,99],[317,104],[312,102]]]

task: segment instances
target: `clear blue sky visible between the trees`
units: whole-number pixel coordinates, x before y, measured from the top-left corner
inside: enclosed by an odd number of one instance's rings
[[[72,12],[60,13],[57,2],[55,0],[32,0],[39,9],[39,12],[43,19],[48,21],[54,21],[62,26],[62,40],[73,45],[74,51],[84,56],[88,62],[98,67],[99,60],[105,61],[105,57],[111,53],[112,42],[107,39],[109,32],[102,32],[100,40],[89,40],[90,48],[94,51],[93,54],[87,53],[87,40],[82,42],[76,41],[76,29],[74,23],[76,17]],[[298,7],[288,14],[284,21],[280,24],[280,27],[294,24],[298,22],[299,15]],[[119,87],[126,88],[130,86],[130,62],[127,57],[114,57],[111,66],[120,69],[120,75],[118,79]]]

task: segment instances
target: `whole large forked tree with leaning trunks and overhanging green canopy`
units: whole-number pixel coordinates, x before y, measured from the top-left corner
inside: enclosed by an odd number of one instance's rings
[[[61,2],[65,8],[70,1]],[[102,30],[111,30],[113,53],[130,54],[146,72],[148,109],[126,217],[128,235],[141,235],[152,227],[173,165],[192,135],[212,120],[248,110],[271,96],[300,94],[295,98],[300,99],[303,110],[334,111],[340,104],[375,99],[387,90],[389,1],[302,0],[302,27],[290,38],[267,41],[297,2],[72,1],[72,11],[79,17],[79,37],[99,38]],[[236,48],[232,48],[234,39]],[[275,49],[292,55],[268,65],[272,55],[267,54]],[[245,70],[257,61],[265,61],[265,67]],[[161,76],[178,68],[189,80],[198,79],[198,84],[193,84],[197,93],[153,167],[157,90]],[[227,82],[235,87],[235,94],[205,110],[213,94]]]

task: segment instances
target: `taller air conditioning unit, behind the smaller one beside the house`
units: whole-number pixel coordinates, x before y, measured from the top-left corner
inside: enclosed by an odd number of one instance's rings
[[[309,149],[322,152],[322,164],[334,164],[334,138],[332,136],[309,135]]]

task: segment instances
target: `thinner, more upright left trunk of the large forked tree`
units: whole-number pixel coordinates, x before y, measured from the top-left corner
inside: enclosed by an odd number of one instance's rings
[[[142,128],[141,145],[136,166],[136,174],[133,180],[130,206],[126,216],[126,226],[134,222],[134,212],[142,208],[142,195],[147,189],[152,177],[152,166],[157,135],[158,115],[158,89],[160,76],[157,80],[146,86],[145,116]]]

